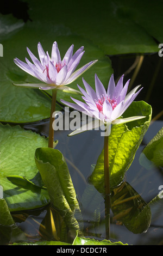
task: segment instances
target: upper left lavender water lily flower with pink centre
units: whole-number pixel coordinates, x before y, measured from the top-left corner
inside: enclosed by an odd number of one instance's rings
[[[27,58],[26,63],[22,62],[18,58],[15,58],[14,62],[22,70],[36,77],[42,83],[14,85],[28,88],[39,88],[42,90],[60,89],[65,90],[65,92],[77,92],[76,90],[66,87],[66,85],[76,80],[80,75],[83,74],[83,72],[95,64],[97,60],[87,63],[86,65],[82,66],[82,68],[74,72],[84,54],[84,47],[80,47],[74,54],[73,47],[74,45],[71,45],[70,48],[68,48],[62,60],[57,42],[53,43],[51,57],[49,56],[48,52],[45,53],[40,42],[38,43],[37,50],[40,60],[37,59],[27,47],[27,52],[33,63],[31,63]]]

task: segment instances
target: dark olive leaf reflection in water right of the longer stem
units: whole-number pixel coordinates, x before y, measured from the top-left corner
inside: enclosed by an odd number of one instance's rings
[[[151,209],[133,187],[124,182],[111,196],[113,221],[118,221],[134,234],[146,232],[151,223]]]

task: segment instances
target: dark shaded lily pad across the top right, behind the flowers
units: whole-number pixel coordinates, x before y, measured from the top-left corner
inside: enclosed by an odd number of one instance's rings
[[[105,54],[158,51],[154,38],[158,41],[162,38],[161,1],[149,4],[148,1],[112,0],[99,4],[99,1],[83,0],[79,9],[75,1],[62,4],[40,0],[39,5],[32,0],[26,2],[30,19],[42,20],[47,26],[53,23],[54,31],[58,25],[65,25],[67,33],[90,40]],[[53,20],[54,9],[61,12],[57,11]]]

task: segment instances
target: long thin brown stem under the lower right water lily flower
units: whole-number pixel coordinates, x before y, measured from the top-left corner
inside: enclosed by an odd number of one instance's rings
[[[104,181],[105,181],[105,229],[106,239],[110,238],[110,175],[109,175],[109,136],[104,137]]]

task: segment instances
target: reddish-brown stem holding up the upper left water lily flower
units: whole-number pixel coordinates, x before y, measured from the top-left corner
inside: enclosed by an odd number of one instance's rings
[[[53,121],[55,120],[55,117],[53,117],[53,113],[55,112],[56,97],[57,97],[57,90],[52,90],[51,117],[50,117],[50,124],[49,124],[49,141],[48,141],[49,148],[53,148],[53,143],[54,143],[54,130],[52,125],[53,125]]]

